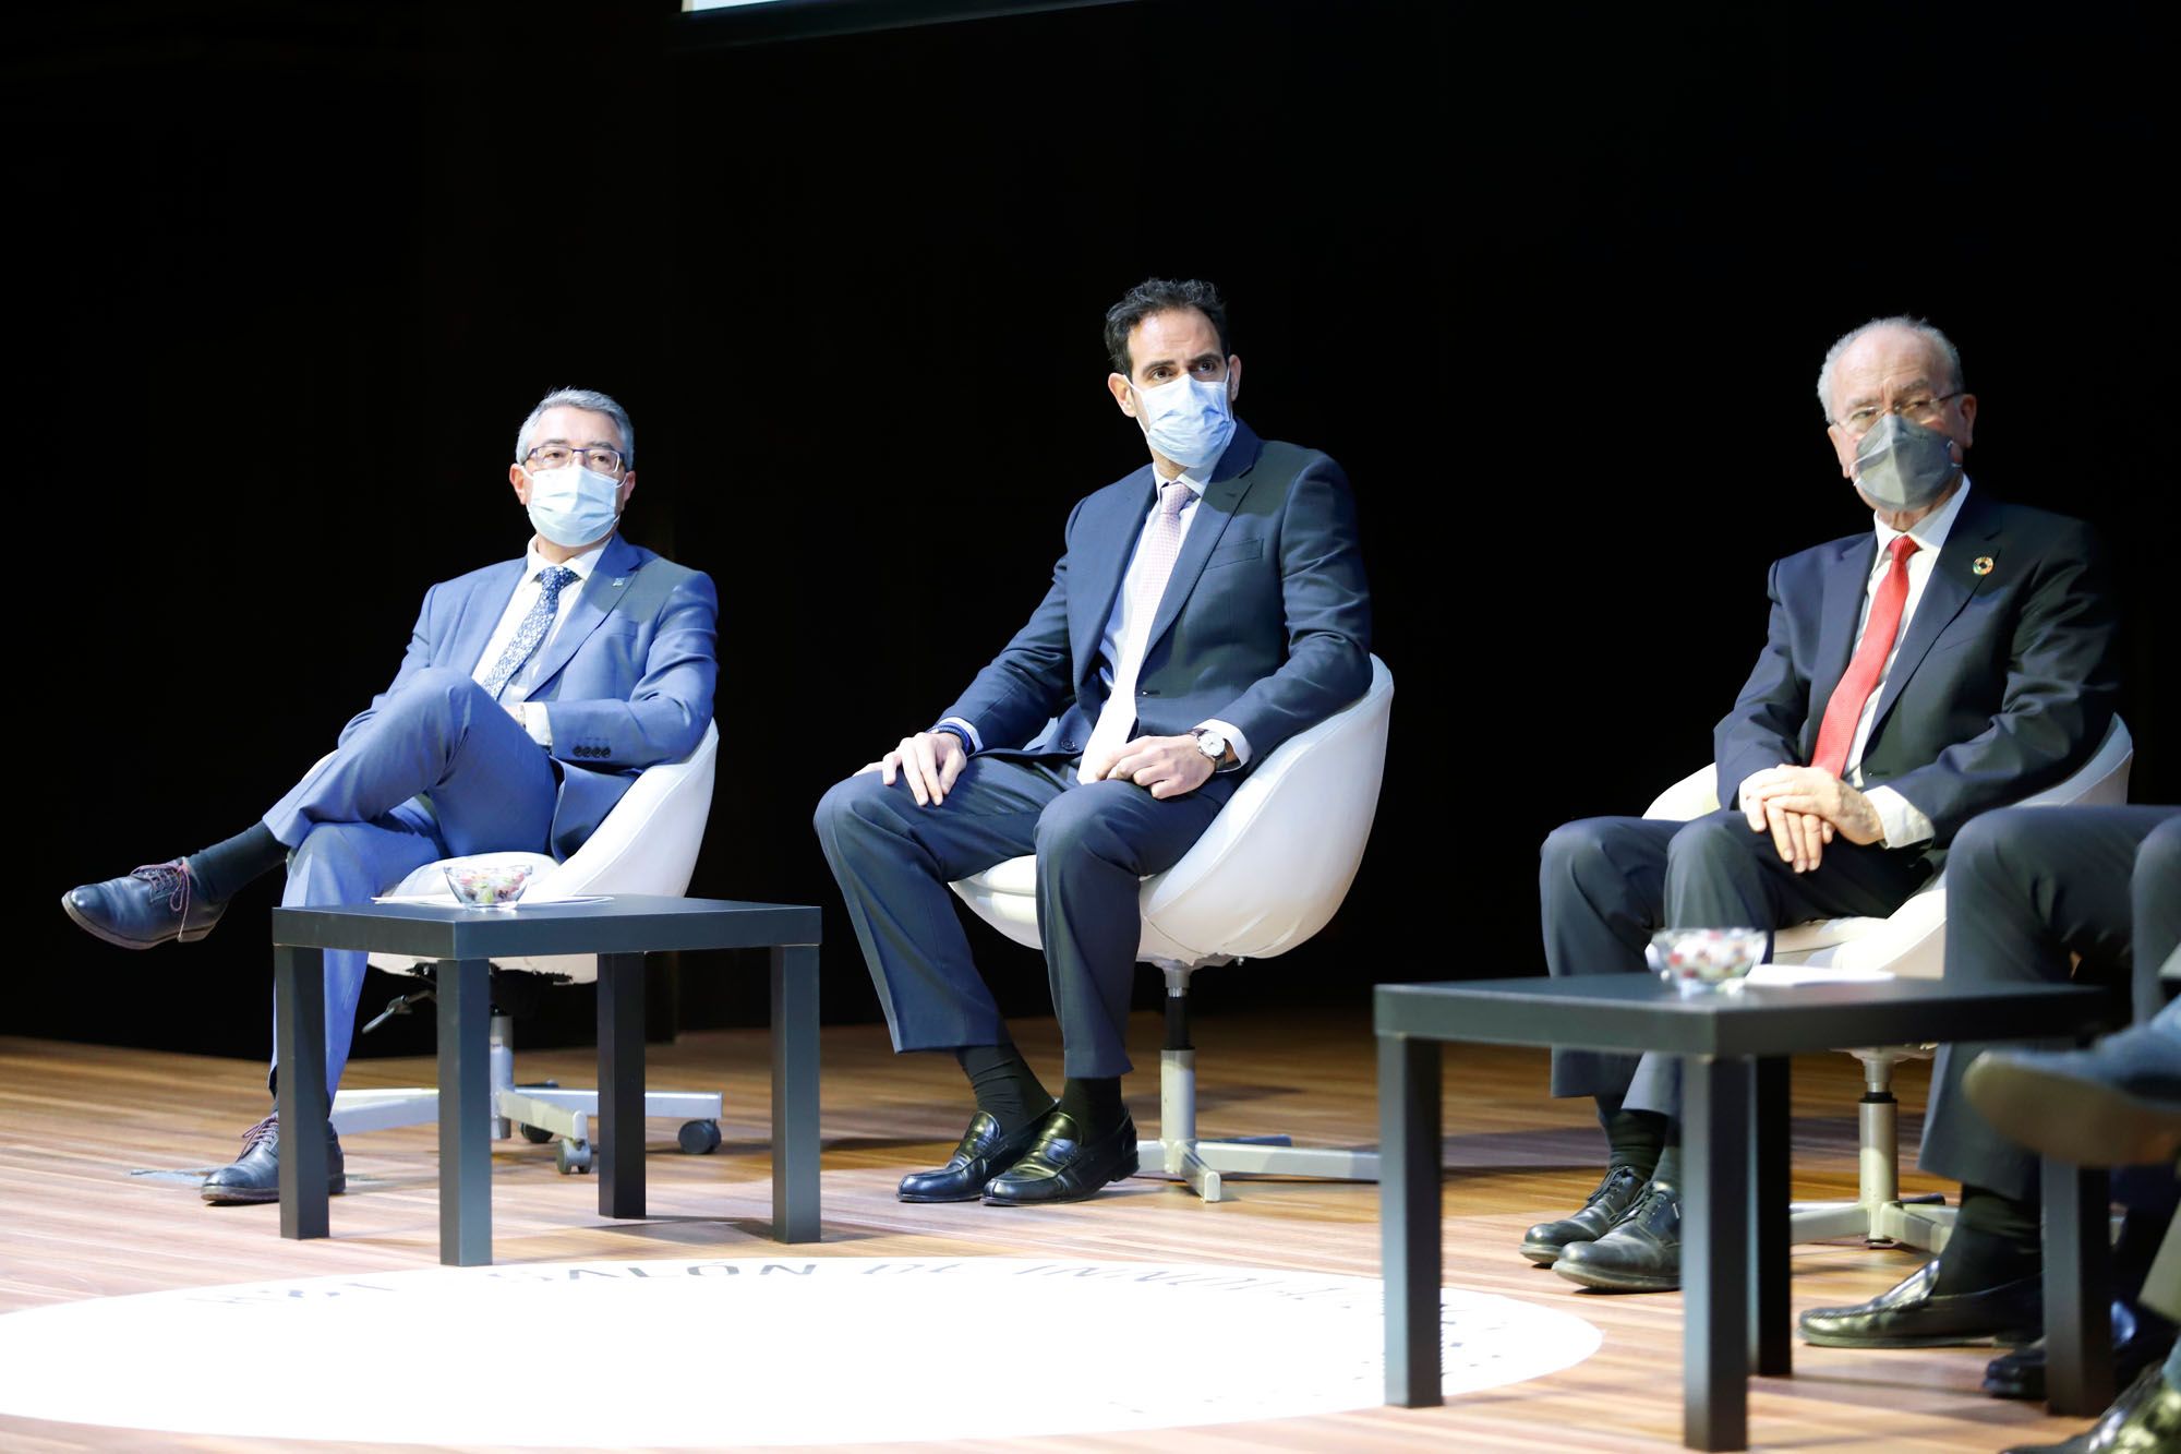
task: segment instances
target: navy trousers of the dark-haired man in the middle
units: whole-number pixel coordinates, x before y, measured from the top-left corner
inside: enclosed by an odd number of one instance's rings
[[[1156,799],[1132,782],[1075,782],[1060,758],[971,758],[944,803],[918,808],[877,773],[818,803],[818,843],[879,987],[894,1050],[1008,1039],[947,889],[995,862],[1038,856],[1038,939],[1069,1076],[1119,1076],[1136,967],[1143,878],[1180,862],[1234,792],[1213,777]]]

